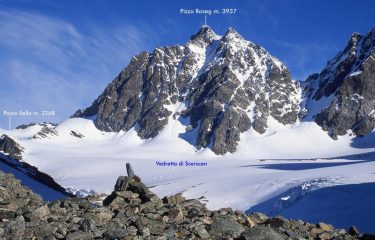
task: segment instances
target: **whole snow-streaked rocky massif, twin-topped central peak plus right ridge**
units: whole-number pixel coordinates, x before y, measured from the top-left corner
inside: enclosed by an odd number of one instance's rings
[[[104,131],[134,128],[143,139],[180,121],[186,133],[196,133],[192,144],[216,154],[234,152],[240,134],[251,128],[264,133],[270,119],[284,125],[315,120],[333,138],[349,129],[363,135],[374,128],[375,87],[364,87],[374,85],[374,32],[353,35],[320,74],[299,82],[233,28],[218,36],[204,26],[184,46],[133,57],[93,104],[73,117],[95,116]],[[309,116],[322,97],[331,97],[328,106]]]

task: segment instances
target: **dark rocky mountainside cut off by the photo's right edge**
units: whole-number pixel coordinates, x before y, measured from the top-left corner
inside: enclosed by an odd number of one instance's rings
[[[305,112],[326,102],[314,119],[332,138],[348,130],[358,136],[370,133],[375,127],[375,28],[365,36],[354,33],[305,85]]]

